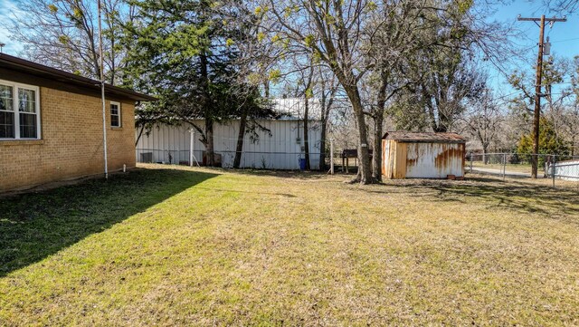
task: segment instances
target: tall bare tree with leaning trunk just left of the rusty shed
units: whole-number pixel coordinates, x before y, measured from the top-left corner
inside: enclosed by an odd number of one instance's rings
[[[360,169],[355,181],[373,182],[368,154],[364,107],[358,82],[367,72],[359,55],[366,13],[372,1],[267,0],[261,8],[269,14],[268,33],[282,40],[286,53],[311,52],[331,69],[347,94],[357,121]]]

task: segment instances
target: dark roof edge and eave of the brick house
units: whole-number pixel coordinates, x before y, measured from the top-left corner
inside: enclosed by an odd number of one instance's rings
[[[5,68],[14,72],[23,72],[28,75],[54,82],[72,84],[82,89],[90,91],[100,91],[100,81],[91,80],[71,72],[64,72],[52,67],[44,66],[40,63],[33,63],[21,58],[17,58],[5,53],[0,53],[0,68]],[[105,83],[105,92],[118,98],[132,101],[157,101],[157,98],[147,94],[130,91]]]

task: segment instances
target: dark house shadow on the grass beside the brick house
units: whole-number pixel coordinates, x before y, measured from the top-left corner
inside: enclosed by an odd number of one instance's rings
[[[109,180],[0,198],[0,277],[216,176],[135,169]]]

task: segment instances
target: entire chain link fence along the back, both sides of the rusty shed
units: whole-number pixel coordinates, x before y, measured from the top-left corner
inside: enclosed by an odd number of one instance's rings
[[[205,151],[193,151],[193,160],[189,150],[176,149],[137,149],[137,162],[159,163],[170,165],[206,166]],[[215,151],[216,166],[233,168],[235,151]],[[330,156],[327,151],[323,164],[320,165],[320,153],[310,152],[311,170],[327,171],[330,162],[334,161],[336,173],[356,173],[357,159],[346,159],[343,151],[335,150]],[[536,179],[532,178],[532,162],[537,160]],[[305,154],[303,152],[257,152],[242,151],[239,168],[304,170]],[[467,153],[465,158],[467,174],[484,175],[489,178],[500,178],[504,181],[527,181],[549,186],[571,185],[579,188],[579,156],[567,155],[530,155],[522,153]]]

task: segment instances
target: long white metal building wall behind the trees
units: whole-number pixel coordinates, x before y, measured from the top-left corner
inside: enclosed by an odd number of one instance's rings
[[[299,169],[299,159],[304,158],[303,122],[299,120],[260,120],[259,122],[261,126],[271,130],[271,136],[267,131],[258,130],[259,140],[253,143],[250,135],[245,134],[241,168]],[[196,120],[195,124],[203,127],[204,121]],[[214,150],[222,155],[223,168],[233,168],[239,126],[239,120],[214,125]],[[190,128],[189,124],[159,125],[153,128],[149,135],[143,133],[137,144],[137,161],[142,161],[142,153],[151,153],[153,162],[189,161],[191,134],[188,130]],[[139,130],[136,131],[136,138],[138,132]],[[199,139],[200,135],[196,133],[194,154],[201,163],[205,148]],[[308,143],[310,167],[318,169],[321,143],[319,121],[309,121]]]

